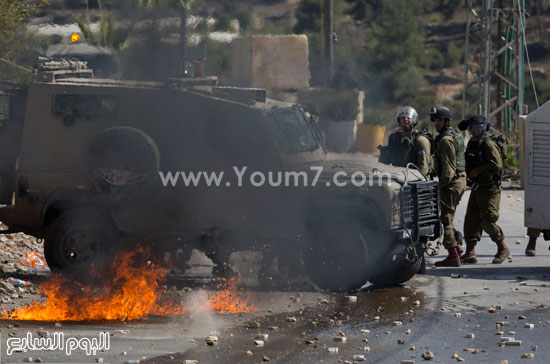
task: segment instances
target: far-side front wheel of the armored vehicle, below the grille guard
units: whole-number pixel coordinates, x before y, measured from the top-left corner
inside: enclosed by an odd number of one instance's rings
[[[383,258],[384,263],[370,277],[370,282],[379,287],[392,287],[407,282],[422,265],[424,251],[420,246],[417,246],[416,250],[416,255],[409,254],[407,259],[405,244],[399,244],[394,250],[395,253]]]

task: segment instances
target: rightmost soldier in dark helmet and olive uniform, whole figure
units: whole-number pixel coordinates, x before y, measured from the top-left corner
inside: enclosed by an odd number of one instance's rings
[[[466,126],[472,134],[466,148],[466,172],[472,191],[464,219],[466,253],[461,261],[464,264],[477,262],[475,246],[485,230],[498,248],[493,264],[501,264],[510,256],[510,251],[504,243],[504,233],[496,224],[500,209],[501,152],[499,146],[486,133],[490,124],[485,117],[474,115],[459,124],[462,130]]]

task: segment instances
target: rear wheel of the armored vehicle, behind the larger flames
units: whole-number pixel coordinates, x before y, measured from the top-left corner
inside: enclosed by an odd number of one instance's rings
[[[93,209],[61,214],[48,228],[44,255],[53,272],[86,274],[92,265],[102,271],[112,258],[119,231],[105,214]]]

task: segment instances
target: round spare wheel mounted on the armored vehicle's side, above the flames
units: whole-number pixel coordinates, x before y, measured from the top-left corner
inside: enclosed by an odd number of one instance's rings
[[[93,183],[107,198],[128,200],[155,183],[160,153],[155,141],[143,131],[114,127],[92,141],[87,163]]]

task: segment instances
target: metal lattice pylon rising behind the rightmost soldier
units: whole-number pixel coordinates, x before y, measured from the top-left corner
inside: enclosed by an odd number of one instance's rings
[[[478,113],[501,121],[504,131],[511,131],[523,114],[523,0],[480,3],[481,7],[468,0],[462,117]],[[492,83],[497,84],[496,95]]]

